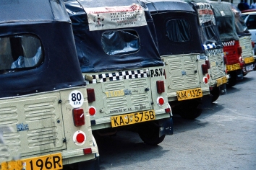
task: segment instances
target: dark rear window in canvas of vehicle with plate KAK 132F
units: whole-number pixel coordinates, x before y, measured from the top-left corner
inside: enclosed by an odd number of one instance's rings
[[[187,42],[191,38],[189,22],[186,19],[171,19],[166,22],[168,39],[173,42]]]

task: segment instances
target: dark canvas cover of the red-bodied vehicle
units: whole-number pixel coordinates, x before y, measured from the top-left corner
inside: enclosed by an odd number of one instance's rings
[[[239,40],[236,34],[234,13],[228,2],[208,1],[213,5],[221,41]]]

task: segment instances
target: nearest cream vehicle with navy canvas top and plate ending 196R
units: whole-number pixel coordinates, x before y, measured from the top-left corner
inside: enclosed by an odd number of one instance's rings
[[[99,169],[64,3],[3,1],[0,11],[1,169]]]

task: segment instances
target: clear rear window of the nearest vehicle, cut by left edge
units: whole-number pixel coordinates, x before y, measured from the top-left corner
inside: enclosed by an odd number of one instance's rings
[[[0,73],[11,73],[40,66],[43,55],[34,35],[0,37]]]

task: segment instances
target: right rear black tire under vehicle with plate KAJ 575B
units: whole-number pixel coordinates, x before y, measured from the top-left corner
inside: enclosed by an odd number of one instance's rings
[[[159,127],[153,123],[148,123],[143,126],[143,130],[139,132],[142,141],[150,146],[156,146],[163,142],[166,135],[159,137]]]

